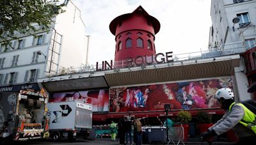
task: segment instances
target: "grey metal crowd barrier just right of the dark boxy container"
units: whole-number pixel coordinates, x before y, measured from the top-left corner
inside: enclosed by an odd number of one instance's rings
[[[177,142],[177,145],[182,142],[184,144],[184,128],[183,127],[170,127],[168,130],[168,137],[169,137],[169,142],[172,142],[175,144]],[[184,144],[185,145],[185,144]]]

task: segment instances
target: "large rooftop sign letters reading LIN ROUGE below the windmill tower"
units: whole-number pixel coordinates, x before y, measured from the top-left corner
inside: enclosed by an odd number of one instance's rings
[[[102,61],[101,66],[99,66],[99,62],[96,62],[96,71],[104,71],[108,69],[121,68],[121,67],[135,67],[135,66],[147,66],[150,64],[161,64],[167,62],[173,62],[172,59],[173,52],[157,53],[156,55],[150,56],[137,56],[135,58],[129,57],[123,61],[115,62],[113,66],[113,60],[109,62]]]

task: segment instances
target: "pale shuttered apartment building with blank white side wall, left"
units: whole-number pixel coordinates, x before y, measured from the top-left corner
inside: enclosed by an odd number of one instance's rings
[[[1,92],[40,90],[38,78],[57,73],[61,68],[86,64],[88,37],[81,12],[72,1],[63,10],[64,13],[52,18],[49,28],[33,24],[35,32],[16,32],[18,39],[11,39],[12,46],[5,47],[0,40]]]

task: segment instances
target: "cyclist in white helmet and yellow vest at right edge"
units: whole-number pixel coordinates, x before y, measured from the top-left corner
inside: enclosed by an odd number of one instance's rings
[[[202,139],[224,134],[232,128],[238,139],[236,144],[255,144],[256,130],[253,131],[252,128],[256,126],[256,115],[243,104],[235,103],[234,93],[230,88],[221,88],[216,92],[215,98],[225,109],[225,114],[207,132],[201,134]]]

